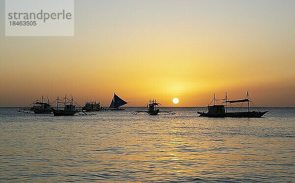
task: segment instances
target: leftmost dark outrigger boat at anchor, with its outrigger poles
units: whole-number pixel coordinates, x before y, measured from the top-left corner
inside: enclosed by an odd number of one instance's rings
[[[23,112],[23,113],[35,113],[35,114],[50,114],[50,113],[52,113],[52,109],[51,109],[51,105],[49,103],[48,97],[47,97],[47,100],[48,100],[47,103],[44,103],[43,99],[44,99],[44,97],[42,95],[41,101],[36,100],[36,102],[29,105],[29,106],[32,105],[30,108],[22,108],[18,111]]]

